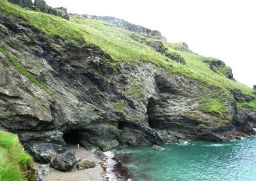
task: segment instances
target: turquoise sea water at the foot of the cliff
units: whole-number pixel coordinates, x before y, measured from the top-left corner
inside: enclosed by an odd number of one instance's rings
[[[124,165],[134,180],[256,180],[256,136],[161,147],[174,150],[152,150],[152,146],[120,150],[129,153]]]

